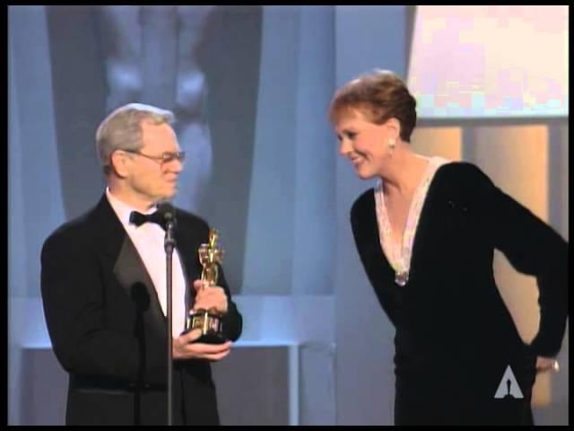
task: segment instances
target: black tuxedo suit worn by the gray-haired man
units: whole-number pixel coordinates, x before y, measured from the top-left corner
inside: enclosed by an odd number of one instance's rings
[[[201,276],[197,249],[208,225],[176,209],[175,240],[188,295]],[[242,317],[228,295],[223,328],[239,338]],[[41,253],[41,293],[48,333],[69,374],[66,424],[167,423],[167,320],[152,279],[104,195],[85,216],[52,233]],[[191,306],[191,303],[190,303]],[[219,424],[211,367],[173,362],[173,423]]]

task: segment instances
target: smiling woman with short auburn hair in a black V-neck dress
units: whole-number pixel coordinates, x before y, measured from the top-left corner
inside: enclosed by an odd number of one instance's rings
[[[535,374],[558,365],[568,244],[474,164],[415,154],[415,105],[397,75],[375,71],[339,89],[330,109],[340,154],[378,179],[351,224],[396,328],[395,423],[532,424]],[[496,286],[495,249],[536,277],[540,330],[529,344]]]

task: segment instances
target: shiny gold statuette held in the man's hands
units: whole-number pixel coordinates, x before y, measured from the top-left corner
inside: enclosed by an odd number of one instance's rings
[[[218,264],[222,264],[223,251],[217,245],[219,234],[216,230],[209,231],[209,243],[201,244],[197,253],[199,262],[203,270],[201,279],[204,281],[202,289],[208,289],[210,286],[217,285],[217,276],[219,274]],[[191,310],[187,322],[187,330],[201,330],[201,336],[196,339],[199,343],[221,344],[226,341],[223,336],[222,315],[210,310]]]

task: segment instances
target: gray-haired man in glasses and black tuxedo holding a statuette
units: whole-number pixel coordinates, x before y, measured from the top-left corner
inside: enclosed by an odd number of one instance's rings
[[[176,193],[184,156],[173,114],[131,103],[100,124],[96,147],[108,187],[100,202],[52,233],[41,253],[48,333],[69,374],[67,425],[167,422],[168,339],[163,226],[149,216]],[[218,286],[199,280],[197,250],[209,226],[175,210],[172,259],[172,420],[218,425],[210,362],[230,353],[242,317],[220,268]],[[149,223],[143,223],[147,220]],[[185,332],[190,309],[222,315],[226,341]]]

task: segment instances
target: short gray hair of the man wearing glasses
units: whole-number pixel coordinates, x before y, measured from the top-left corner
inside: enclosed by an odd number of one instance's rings
[[[96,151],[106,174],[111,172],[114,151],[137,151],[142,147],[142,121],[173,124],[175,116],[170,110],[143,103],[129,103],[111,112],[96,132]]]

